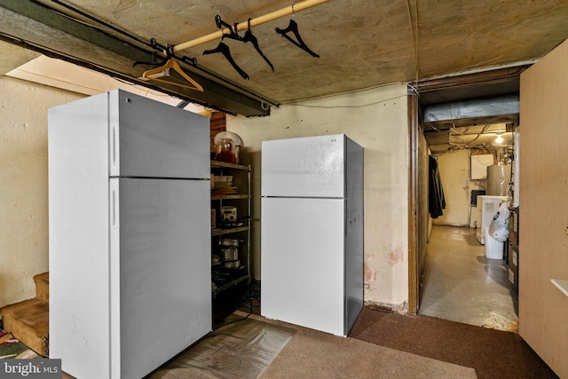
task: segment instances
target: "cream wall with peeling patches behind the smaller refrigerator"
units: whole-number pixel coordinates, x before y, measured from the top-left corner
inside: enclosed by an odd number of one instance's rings
[[[406,85],[272,107],[263,118],[227,116],[253,166],[254,276],[260,272],[260,149],[269,139],[344,133],[365,149],[365,299],[408,298],[408,121]],[[318,267],[313,267],[314,271]],[[292,278],[291,278],[292,280]]]

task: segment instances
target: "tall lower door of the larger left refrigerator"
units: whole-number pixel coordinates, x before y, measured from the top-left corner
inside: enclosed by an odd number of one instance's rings
[[[112,377],[143,377],[211,330],[209,191],[111,179]]]

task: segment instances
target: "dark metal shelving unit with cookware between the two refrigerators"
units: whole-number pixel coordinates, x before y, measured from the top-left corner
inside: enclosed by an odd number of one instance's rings
[[[235,185],[238,185],[239,193],[216,193],[216,188],[212,188],[211,209],[215,209],[216,219],[220,216],[219,209],[223,206],[234,206],[237,208],[238,220],[243,225],[231,227],[217,227],[211,229],[212,254],[218,254],[221,259],[223,255],[219,252],[219,240],[223,237],[242,241],[239,246],[239,260],[241,265],[238,268],[225,267],[223,260],[217,265],[211,265],[213,296],[217,296],[226,288],[231,288],[247,281],[250,284],[250,241],[251,241],[251,166],[233,164],[226,162],[211,161],[211,174],[216,176],[232,176]],[[217,223],[216,223],[217,224]],[[241,245],[244,249],[241,249]]]

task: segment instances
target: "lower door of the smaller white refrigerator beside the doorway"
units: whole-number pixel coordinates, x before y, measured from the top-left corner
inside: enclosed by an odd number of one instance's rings
[[[344,201],[262,199],[261,314],[344,336]]]

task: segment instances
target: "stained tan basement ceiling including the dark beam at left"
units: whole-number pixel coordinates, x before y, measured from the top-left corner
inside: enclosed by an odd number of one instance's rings
[[[252,28],[274,72],[251,43],[225,38],[249,80],[223,55],[203,55],[220,40],[177,52],[180,58],[197,60],[196,67],[179,62],[203,85],[203,92],[138,79],[151,67],[133,64],[152,59],[153,39],[160,46],[175,46],[218,31],[216,15],[229,24],[240,23],[293,3],[0,0],[0,36],[28,49],[12,49],[0,68],[4,74],[34,58],[32,49],[180,99],[255,116],[269,114],[271,105],[298,99],[533,62],[568,37],[564,1],[330,0]],[[288,27],[290,19],[319,58],[275,32]],[[13,67],[6,67],[11,63]]]

